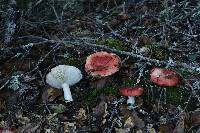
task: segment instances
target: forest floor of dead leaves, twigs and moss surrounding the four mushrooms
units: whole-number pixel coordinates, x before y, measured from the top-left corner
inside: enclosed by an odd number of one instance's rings
[[[199,133],[200,2],[0,2],[0,130],[16,133]],[[98,51],[121,58],[119,71],[96,78],[85,62]],[[74,101],[46,75],[79,68]],[[153,68],[176,71],[180,82],[151,82]],[[134,108],[120,88],[141,85]],[[0,131],[1,132],[1,131]]]

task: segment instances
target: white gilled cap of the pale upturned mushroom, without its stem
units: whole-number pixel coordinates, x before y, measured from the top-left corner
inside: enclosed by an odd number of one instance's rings
[[[51,69],[46,76],[46,82],[55,88],[62,88],[62,84],[74,85],[82,79],[81,71],[68,65],[58,65]]]

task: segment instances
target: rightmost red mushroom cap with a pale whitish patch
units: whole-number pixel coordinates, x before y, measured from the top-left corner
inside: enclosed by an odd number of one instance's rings
[[[180,76],[173,70],[154,68],[151,70],[151,81],[159,86],[177,86]]]

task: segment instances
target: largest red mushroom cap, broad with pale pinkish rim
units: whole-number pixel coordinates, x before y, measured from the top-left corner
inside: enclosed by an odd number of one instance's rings
[[[121,59],[114,53],[96,52],[86,59],[85,71],[92,76],[109,76],[119,70]]]

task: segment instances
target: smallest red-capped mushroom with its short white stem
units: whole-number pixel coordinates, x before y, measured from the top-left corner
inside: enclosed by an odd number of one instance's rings
[[[144,89],[141,86],[124,87],[120,89],[120,93],[123,96],[128,96],[127,104],[135,104],[135,96],[142,95]]]

